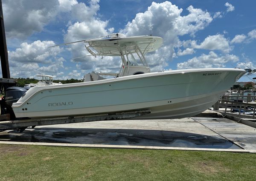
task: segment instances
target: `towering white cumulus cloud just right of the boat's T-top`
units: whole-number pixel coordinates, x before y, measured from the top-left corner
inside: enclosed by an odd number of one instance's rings
[[[126,36],[152,34],[163,37],[163,46],[154,52],[154,56],[148,57],[149,64],[154,65],[151,70],[161,71],[168,66],[168,61],[172,60],[175,55],[174,48],[179,46],[179,36],[185,34],[193,36],[195,32],[204,29],[212,21],[207,11],[196,9],[193,6],[189,6],[187,11],[188,13],[182,16],[183,9],[179,9],[169,1],[153,2],[147,11],[136,14],[135,18],[128,22],[120,32]],[[186,49],[179,54],[185,55],[191,52],[192,49]]]

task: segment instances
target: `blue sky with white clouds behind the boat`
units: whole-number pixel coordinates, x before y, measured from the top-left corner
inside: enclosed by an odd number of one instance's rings
[[[44,73],[66,80],[91,71],[119,72],[119,57],[74,60],[90,55],[83,42],[49,48],[112,33],[162,37],[163,45],[146,55],[151,72],[256,68],[255,0],[2,0],[2,5],[12,78]]]

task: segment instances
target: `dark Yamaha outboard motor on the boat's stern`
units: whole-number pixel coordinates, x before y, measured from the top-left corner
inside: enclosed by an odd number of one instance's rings
[[[22,87],[8,87],[6,89],[6,95],[4,96],[6,113],[10,114],[11,119],[15,118],[15,114],[12,110],[12,103],[16,103],[27,90]]]

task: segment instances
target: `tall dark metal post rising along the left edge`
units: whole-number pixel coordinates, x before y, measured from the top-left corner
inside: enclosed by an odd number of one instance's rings
[[[0,57],[1,57],[1,67],[2,67],[2,75],[3,78],[11,78],[10,70],[9,70],[9,61],[8,61],[8,52],[6,46],[6,36],[4,30],[3,23],[3,8],[2,8],[2,0],[0,0]]]

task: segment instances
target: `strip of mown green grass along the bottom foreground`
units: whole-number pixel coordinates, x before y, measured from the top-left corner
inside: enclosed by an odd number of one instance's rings
[[[1,181],[251,181],[256,154],[0,144]]]

